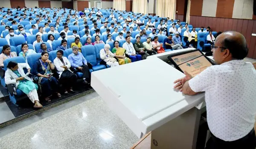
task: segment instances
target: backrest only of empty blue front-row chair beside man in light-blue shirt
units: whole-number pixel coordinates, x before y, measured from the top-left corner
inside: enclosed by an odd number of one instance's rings
[[[82,46],[82,54],[87,62],[90,62],[93,66],[97,65],[96,52],[93,45]]]

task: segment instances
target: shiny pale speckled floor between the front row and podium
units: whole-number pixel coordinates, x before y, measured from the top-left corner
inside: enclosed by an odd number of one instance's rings
[[[8,126],[0,137],[1,149],[129,149],[139,140],[96,93]]]

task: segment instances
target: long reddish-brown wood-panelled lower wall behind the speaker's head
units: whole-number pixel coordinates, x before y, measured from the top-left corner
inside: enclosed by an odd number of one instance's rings
[[[256,59],[256,37],[251,36],[252,33],[256,33],[256,20],[190,16],[190,24],[199,28],[210,26],[216,32],[240,32],[244,35],[249,48],[247,57]]]

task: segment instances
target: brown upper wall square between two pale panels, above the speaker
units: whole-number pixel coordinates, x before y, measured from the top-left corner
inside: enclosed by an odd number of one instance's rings
[[[218,0],[216,17],[232,18],[235,0]]]

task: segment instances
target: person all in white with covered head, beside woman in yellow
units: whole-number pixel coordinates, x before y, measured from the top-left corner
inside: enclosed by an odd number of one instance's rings
[[[119,66],[116,58],[114,58],[115,54],[113,54],[109,49],[109,44],[105,44],[104,49],[101,49],[99,52],[100,58],[104,60],[106,64],[110,67]]]

